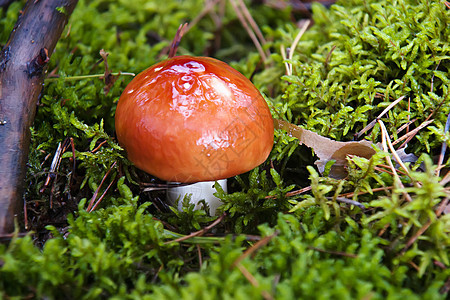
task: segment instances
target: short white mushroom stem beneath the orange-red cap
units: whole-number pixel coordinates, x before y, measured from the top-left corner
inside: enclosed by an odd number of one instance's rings
[[[220,184],[222,189],[227,192],[227,180],[222,179],[217,182]],[[199,202],[204,199],[209,206],[210,215],[214,216],[217,208],[222,204],[222,201],[214,196],[214,193],[216,192],[214,184],[215,181],[203,181],[185,186],[169,188],[167,190],[167,200],[172,205],[175,205],[179,199],[178,210],[181,211],[184,196],[187,194],[192,194],[191,203],[195,204],[195,209],[202,208],[202,205]]]

